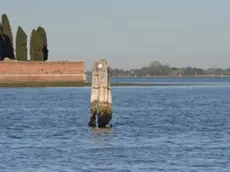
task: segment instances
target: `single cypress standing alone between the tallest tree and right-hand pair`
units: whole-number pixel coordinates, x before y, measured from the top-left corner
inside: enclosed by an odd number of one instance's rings
[[[27,35],[20,26],[16,33],[16,59],[27,61]]]

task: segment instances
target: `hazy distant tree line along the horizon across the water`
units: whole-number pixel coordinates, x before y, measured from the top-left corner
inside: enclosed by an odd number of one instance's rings
[[[91,71],[86,72],[87,76],[91,76]],[[139,69],[116,69],[111,68],[111,75],[113,77],[153,77],[153,76],[169,76],[169,77],[180,77],[180,76],[224,76],[230,75],[230,68],[209,68],[201,69],[196,67],[170,67],[169,65],[161,64],[158,61],[152,62],[149,66],[145,66]]]

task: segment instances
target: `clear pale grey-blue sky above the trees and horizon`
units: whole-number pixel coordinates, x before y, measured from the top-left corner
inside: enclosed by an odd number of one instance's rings
[[[49,60],[99,59],[113,68],[153,61],[176,67],[230,67],[229,0],[0,0],[15,38],[43,26]]]

